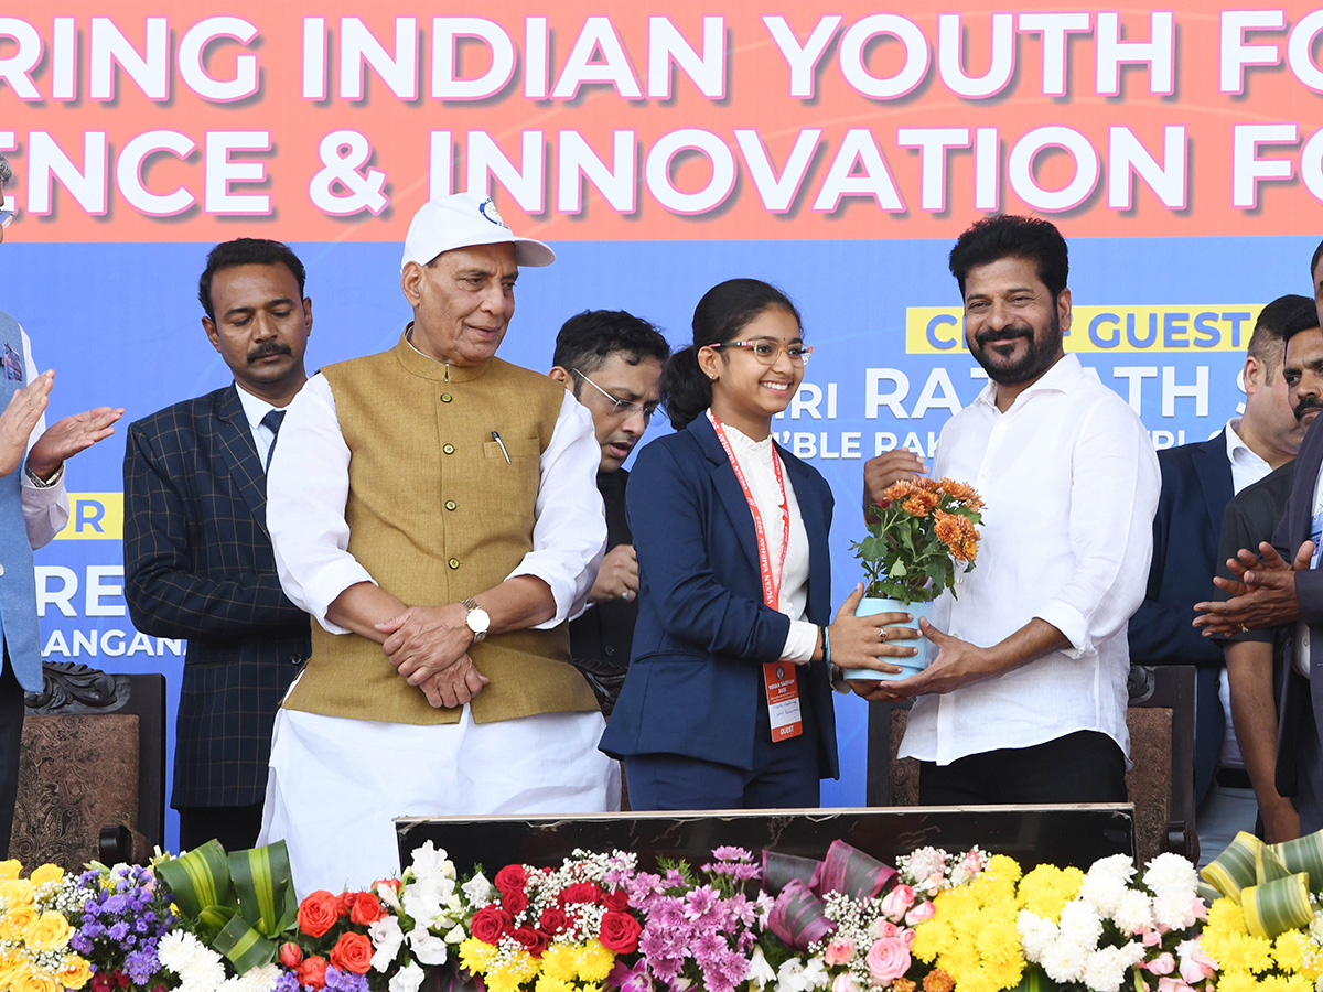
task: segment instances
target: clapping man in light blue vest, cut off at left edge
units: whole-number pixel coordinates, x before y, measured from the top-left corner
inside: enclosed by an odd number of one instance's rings
[[[0,155],[0,242],[13,221],[4,188],[13,181]],[[9,852],[9,831],[19,796],[19,747],[22,741],[24,690],[41,690],[41,631],[32,552],[69,521],[65,460],[115,433],[123,409],[101,406],[46,427],[54,372],[37,374],[32,343],[19,321],[0,312],[0,858]]]

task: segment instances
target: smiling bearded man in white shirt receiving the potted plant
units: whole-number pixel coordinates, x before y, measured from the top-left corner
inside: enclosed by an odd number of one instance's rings
[[[925,804],[1125,802],[1126,622],[1144,594],[1158,460],[1073,354],[1065,239],[998,216],[957,241],[964,336],[988,386],[942,430],[934,474],[987,503],[978,565],[934,604],[927,669],[856,692],[917,697],[901,757]],[[889,480],[869,477],[869,499]],[[934,656],[935,655],[935,656]]]

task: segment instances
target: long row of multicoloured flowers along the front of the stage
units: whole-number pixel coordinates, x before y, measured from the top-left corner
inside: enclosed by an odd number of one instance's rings
[[[820,862],[722,847],[699,869],[646,872],[630,853],[577,850],[488,881],[426,844],[398,878],[295,903],[283,849],[220,853],[26,878],[0,862],[0,992],[1316,992],[1323,979],[1323,833],[1241,835],[1204,869],[1211,906],[1175,854],[1142,872],[1117,856],[1025,873],[978,848],[919,848],[893,869],[835,841]],[[185,909],[180,862],[194,881],[232,869],[202,886],[205,911]]]

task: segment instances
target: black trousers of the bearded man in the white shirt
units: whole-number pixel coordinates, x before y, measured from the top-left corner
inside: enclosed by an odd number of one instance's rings
[[[1126,757],[1106,734],[1078,730],[1033,747],[919,762],[923,806],[1125,803]]]

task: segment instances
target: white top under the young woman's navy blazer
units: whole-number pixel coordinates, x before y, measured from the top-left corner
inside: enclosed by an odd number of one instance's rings
[[[753,501],[758,505],[762,526],[767,537],[767,554],[773,569],[781,561],[781,548],[785,542],[781,515],[781,487],[777,484],[777,470],[771,466],[771,436],[753,440],[729,423],[721,425],[736,452],[740,471],[753,491]],[[795,487],[782,468],[786,480],[786,507],[790,511],[790,546],[786,548],[786,570],[781,577],[777,610],[790,618],[790,632],[781,651],[782,661],[804,664],[812,660],[818,647],[818,624],[804,619],[808,608],[808,532],[804,530],[804,517],[795,499]]]

